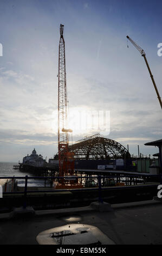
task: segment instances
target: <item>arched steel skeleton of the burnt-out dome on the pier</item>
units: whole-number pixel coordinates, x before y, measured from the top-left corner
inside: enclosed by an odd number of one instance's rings
[[[124,159],[131,155],[128,150],[113,139],[104,138],[100,134],[85,137],[81,141],[69,146],[69,151],[75,153],[75,159],[108,160]]]

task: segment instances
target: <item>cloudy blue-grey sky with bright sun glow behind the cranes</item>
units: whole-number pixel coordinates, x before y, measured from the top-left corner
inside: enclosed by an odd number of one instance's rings
[[[34,148],[44,159],[57,153],[61,23],[73,142],[100,133],[131,154],[137,145],[144,155],[158,153],[144,143],[162,138],[160,104],[126,35],[144,48],[162,95],[161,8],[160,0],[1,0],[0,161],[22,161]],[[106,129],[82,129],[83,112],[109,113]]]

